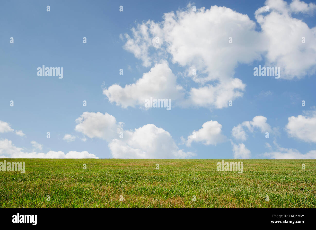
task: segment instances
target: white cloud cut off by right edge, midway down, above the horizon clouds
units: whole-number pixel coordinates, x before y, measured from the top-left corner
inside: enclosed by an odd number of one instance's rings
[[[290,136],[305,142],[316,142],[316,111],[307,112],[297,117],[289,117],[285,126]]]

